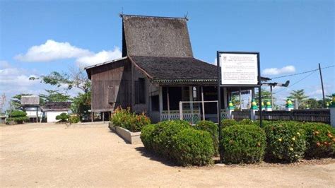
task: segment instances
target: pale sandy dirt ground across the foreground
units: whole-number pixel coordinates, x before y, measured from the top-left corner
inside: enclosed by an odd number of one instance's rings
[[[334,187],[335,161],[313,165],[180,168],[130,145],[107,125],[0,127],[0,186]]]

